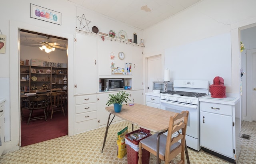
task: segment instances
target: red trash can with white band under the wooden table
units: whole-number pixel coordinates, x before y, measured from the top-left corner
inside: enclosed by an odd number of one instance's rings
[[[142,136],[143,138],[139,138]],[[125,143],[127,150],[127,164],[138,164],[139,160],[139,142],[148,136],[151,136],[150,130],[140,128],[128,134],[125,134]],[[149,164],[150,152],[142,149],[142,164]]]

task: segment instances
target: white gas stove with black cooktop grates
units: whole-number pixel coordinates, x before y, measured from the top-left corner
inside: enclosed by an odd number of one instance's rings
[[[160,109],[180,113],[189,111],[186,131],[187,146],[200,150],[199,97],[209,93],[209,82],[174,80],[173,91],[161,93]]]

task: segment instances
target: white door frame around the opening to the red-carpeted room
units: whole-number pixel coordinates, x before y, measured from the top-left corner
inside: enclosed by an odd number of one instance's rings
[[[32,24],[26,24],[23,22],[10,21],[10,130],[8,132],[10,136],[10,142],[6,142],[7,151],[18,150],[20,147],[20,68],[19,68],[19,60],[20,60],[20,38],[19,38],[19,30],[29,30],[32,32],[39,32],[42,34],[48,34],[52,36],[58,36],[61,38],[68,39],[68,65],[70,65],[68,69],[68,75],[70,79],[74,79],[74,69],[72,67],[74,63],[73,52],[74,52],[74,42],[73,35],[66,34],[63,32],[59,32],[56,30],[41,28],[38,26],[34,26]],[[18,41],[18,46],[17,46]],[[70,86],[74,86],[74,81],[70,80]],[[74,108],[74,89],[72,87],[68,87],[68,109]],[[74,110],[70,110],[68,113],[68,136],[74,135]],[[8,125],[7,125],[8,126]]]

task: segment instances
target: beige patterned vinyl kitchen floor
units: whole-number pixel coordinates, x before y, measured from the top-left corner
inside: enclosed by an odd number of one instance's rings
[[[20,147],[20,150],[3,154],[0,164],[127,164],[126,156],[120,159],[116,155],[117,131],[126,126],[130,132],[132,125],[126,121],[110,125],[103,153],[105,127]],[[242,145],[237,164],[256,164],[256,122],[242,121],[241,134],[250,135],[250,139],[240,138]],[[230,164],[203,150],[188,149],[188,153],[191,164]],[[150,164],[155,163],[156,157],[150,154]]]

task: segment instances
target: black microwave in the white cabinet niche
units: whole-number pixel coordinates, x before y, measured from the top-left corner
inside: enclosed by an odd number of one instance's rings
[[[124,79],[104,79],[103,87],[105,91],[123,90]]]

